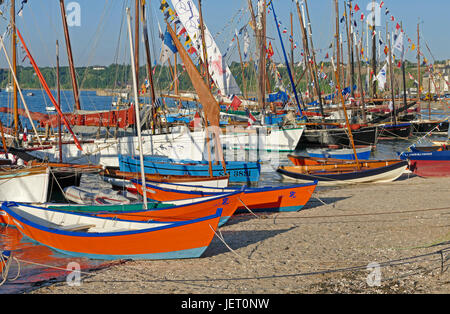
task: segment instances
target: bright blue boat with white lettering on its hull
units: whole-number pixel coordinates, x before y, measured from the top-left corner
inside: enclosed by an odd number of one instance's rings
[[[120,170],[126,172],[139,172],[140,161],[138,158],[119,155]],[[144,158],[144,170],[149,174],[161,175],[185,175],[185,176],[208,176],[208,162],[194,160],[175,160],[166,158],[152,159],[151,156]],[[258,182],[261,172],[259,162],[226,162],[226,172],[221,164],[212,165],[212,176],[223,177],[229,175],[229,182],[252,183]]]

